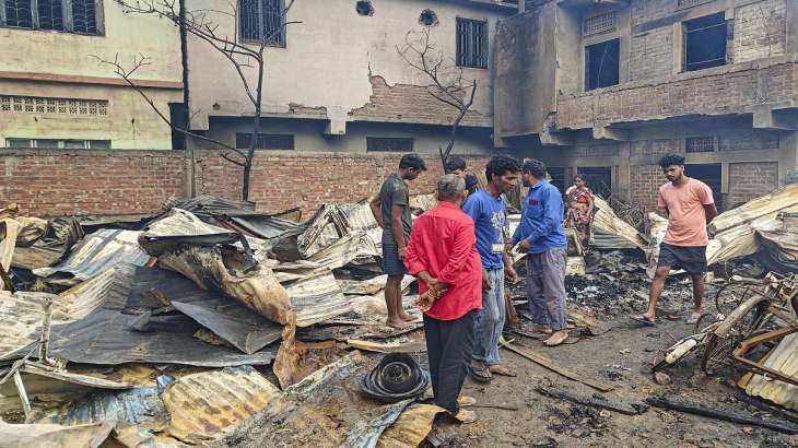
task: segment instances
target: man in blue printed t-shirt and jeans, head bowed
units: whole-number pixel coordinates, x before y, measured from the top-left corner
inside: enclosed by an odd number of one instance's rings
[[[477,251],[482,261],[482,309],[474,322],[469,368],[471,377],[478,381],[490,381],[492,374],[509,375],[498,359],[498,339],[506,318],[504,275],[515,282],[518,274],[507,257],[504,240],[507,210],[502,194],[516,186],[519,168],[514,158],[502,155],[491,158],[485,167],[488,185],[462,204],[462,211],[473,220]]]

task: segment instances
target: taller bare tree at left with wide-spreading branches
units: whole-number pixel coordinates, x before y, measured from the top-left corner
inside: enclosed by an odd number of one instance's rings
[[[253,167],[253,158],[255,157],[255,149],[258,142],[258,134],[260,131],[260,117],[261,117],[261,101],[263,97],[263,69],[266,60],[263,58],[263,51],[266,48],[278,38],[281,33],[284,33],[285,27],[290,24],[301,22],[286,22],[285,20],[280,21],[280,26],[270,33],[261,33],[260,38],[257,42],[242,43],[237,38],[236,26],[233,27],[233,35],[228,35],[228,28],[221,27],[219,23],[213,21],[213,16],[227,16],[234,24],[238,23],[238,4],[233,3],[236,0],[231,0],[227,3],[227,8],[223,10],[218,9],[198,9],[189,10],[185,7],[185,1],[180,0],[115,0],[126,13],[151,15],[157,17],[164,17],[171,21],[173,24],[180,28],[180,33],[192,36],[207,45],[213,50],[223,55],[224,58],[235,68],[236,73],[242,82],[242,87],[246,92],[247,98],[253,105],[253,137],[249,141],[249,148],[246,152],[220,142],[215,139],[192,132],[190,130],[190,117],[186,117],[186,126],[180,127],[172,122],[169,117],[160,110],[155,103],[150,98],[140,85],[136,83],[133,79],[137,71],[142,68],[150,66],[150,57],[145,55],[139,55],[133,58],[132,64],[125,67],[119,61],[117,55],[114,60],[103,59],[94,56],[99,60],[102,64],[108,64],[113,67],[115,73],[120,76],[125,82],[134,89],[146,103],[152,107],[155,114],[166,122],[173,130],[183,133],[184,135],[191,137],[204,142],[215,145],[224,152],[221,156],[232,164],[240,166],[243,168],[243,188],[242,199],[249,199],[249,178]],[[289,10],[294,4],[295,0],[290,0],[282,12],[283,17],[287,16]],[[186,46],[181,45],[184,67],[186,61]],[[185,82],[185,70],[184,69],[184,82]],[[248,74],[255,72],[255,83]],[[185,86],[187,87],[187,86]],[[188,104],[186,104],[188,107]],[[199,114],[200,110],[195,113],[188,113],[187,115]]]

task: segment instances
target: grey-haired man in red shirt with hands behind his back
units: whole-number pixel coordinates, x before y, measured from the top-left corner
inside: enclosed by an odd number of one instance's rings
[[[474,317],[482,308],[482,263],[473,221],[460,210],[466,181],[447,174],[437,191],[438,204],[413,224],[404,264],[421,280],[419,306],[435,404],[469,423],[477,415],[460,406],[474,401],[459,396],[471,362]]]

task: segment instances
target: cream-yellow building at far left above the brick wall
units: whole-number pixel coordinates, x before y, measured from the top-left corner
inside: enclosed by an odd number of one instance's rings
[[[172,149],[172,133],[98,59],[127,68],[166,116],[183,101],[179,36],[115,1],[0,0],[0,148]]]

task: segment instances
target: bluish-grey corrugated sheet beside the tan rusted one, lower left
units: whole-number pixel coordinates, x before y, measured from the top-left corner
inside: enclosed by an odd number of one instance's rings
[[[172,377],[161,376],[156,386],[140,387],[121,392],[93,392],[61,408],[45,411],[44,415],[36,418],[36,422],[81,425],[120,421],[139,425],[149,431],[163,431],[169,423],[169,415],[161,394],[172,381]]]

